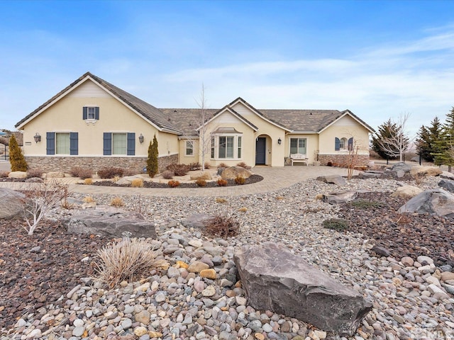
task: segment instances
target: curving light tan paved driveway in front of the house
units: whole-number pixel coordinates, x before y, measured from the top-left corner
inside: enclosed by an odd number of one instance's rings
[[[110,195],[140,195],[140,196],[240,196],[277,191],[287,188],[294,183],[313,179],[321,175],[347,175],[347,169],[331,166],[283,166],[269,167],[257,166],[252,169],[254,174],[263,177],[263,181],[245,186],[226,186],[219,188],[124,188],[112,186],[84,186],[69,184],[72,193],[85,195],[110,194]],[[358,171],[355,171],[357,174]],[[65,179],[62,179],[65,181]],[[23,183],[0,182],[0,188],[23,190]]]

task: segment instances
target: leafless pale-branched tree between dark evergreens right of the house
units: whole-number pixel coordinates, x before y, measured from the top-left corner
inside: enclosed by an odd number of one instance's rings
[[[399,115],[397,122],[393,122],[397,129],[389,134],[389,137],[384,137],[378,140],[380,148],[389,157],[398,157],[400,162],[404,159],[404,153],[408,151],[410,145],[409,133],[406,131],[406,122],[409,120],[410,113],[402,113]]]

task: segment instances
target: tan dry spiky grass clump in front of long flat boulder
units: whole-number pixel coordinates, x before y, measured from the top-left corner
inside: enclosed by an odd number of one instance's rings
[[[158,253],[144,239],[125,238],[109,243],[97,252],[97,256],[98,279],[109,288],[116,288],[123,280],[138,281],[155,269],[169,266],[166,261],[157,259]]]

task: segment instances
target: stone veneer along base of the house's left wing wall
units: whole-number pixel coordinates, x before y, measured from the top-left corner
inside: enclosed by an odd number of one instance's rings
[[[147,166],[148,157],[84,157],[84,156],[26,156],[28,169],[40,169],[44,172],[63,171],[69,173],[72,168],[79,166],[92,169],[94,173],[104,168],[123,168],[135,174],[143,173]],[[165,170],[169,164],[178,163],[178,154],[157,158],[159,171]]]

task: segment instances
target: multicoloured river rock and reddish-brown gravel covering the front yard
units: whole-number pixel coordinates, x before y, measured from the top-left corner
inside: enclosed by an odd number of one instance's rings
[[[437,183],[429,178],[419,186]],[[297,319],[248,306],[236,282],[233,254],[240,246],[269,241],[282,242],[373,303],[351,339],[452,339],[453,221],[401,217],[396,210],[402,201],[389,198],[397,186],[385,179],[353,179],[345,188],[309,180],[224,200],[123,196],[126,208],[140,210],[155,224],[158,238],[151,242],[170,268],[144,273],[139,283],[125,282],[114,290],[90,278],[96,250],[109,239],[65,234],[58,221],[71,210],[55,211],[33,237],[20,222],[4,223],[0,339],[336,339]],[[358,199],[379,201],[382,207],[314,199],[350,189],[361,191]],[[93,198],[109,204],[112,196]],[[240,222],[240,234],[211,239],[182,226],[182,218],[193,213],[233,217]],[[348,229],[321,226],[333,217],[350,221]],[[389,256],[375,253],[377,244]],[[189,272],[177,261],[203,262],[216,278]]]

